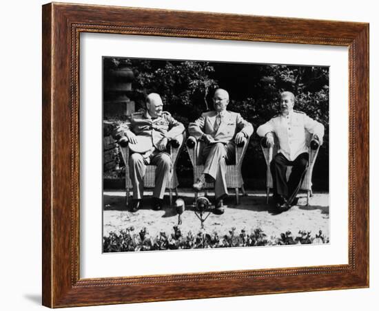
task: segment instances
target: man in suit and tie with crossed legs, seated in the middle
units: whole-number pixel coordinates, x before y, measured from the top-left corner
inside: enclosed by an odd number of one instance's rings
[[[214,213],[217,215],[224,213],[223,200],[228,195],[226,164],[232,162],[236,156],[235,144],[249,138],[254,131],[252,124],[244,120],[240,114],[227,111],[228,104],[228,92],[225,89],[216,89],[213,96],[214,110],[204,112],[196,121],[189,123],[188,127],[189,135],[205,142],[202,151],[205,159],[204,171],[194,183],[194,190],[201,191],[205,180],[214,182]]]

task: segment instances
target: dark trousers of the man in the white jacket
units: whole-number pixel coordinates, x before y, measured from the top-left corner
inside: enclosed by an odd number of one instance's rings
[[[282,153],[276,153],[270,164],[275,197],[283,195],[287,198],[289,204],[294,200],[303,183],[308,160],[308,153],[300,153],[294,161],[287,160]],[[287,182],[286,172],[288,166],[292,167],[292,171]]]

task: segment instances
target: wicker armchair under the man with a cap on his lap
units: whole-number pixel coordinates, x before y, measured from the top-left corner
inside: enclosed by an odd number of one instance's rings
[[[183,148],[183,144],[185,141],[185,132],[181,135],[176,136],[173,140],[171,140],[167,144],[167,148],[170,149],[170,155],[172,160],[172,175],[170,180],[166,184],[166,188],[169,189],[170,193],[170,205],[172,205],[172,191],[174,190],[176,193],[176,197],[178,197],[178,176],[176,175],[176,162],[178,160],[178,156],[181,153]],[[126,197],[125,197],[125,205],[129,204],[130,191],[132,189],[132,180],[130,180],[129,175],[129,147],[127,144],[125,146],[121,146],[121,154],[123,156],[123,161],[125,163],[125,189],[126,189]],[[143,186],[144,188],[154,188],[155,186],[155,165],[147,165],[145,177],[143,178]]]

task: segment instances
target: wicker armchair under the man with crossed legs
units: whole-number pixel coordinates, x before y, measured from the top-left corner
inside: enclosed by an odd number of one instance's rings
[[[242,190],[245,195],[245,188],[243,186],[243,179],[241,173],[241,166],[243,162],[243,157],[249,144],[249,138],[244,138],[243,142],[236,145],[236,159],[233,164],[227,164],[226,170],[226,184],[227,188],[234,188],[236,191],[236,203],[239,204],[239,189]],[[192,167],[194,168],[194,182],[200,177],[204,170],[205,159],[201,156],[201,151],[204,147],[204,142],[196,140],[193,136],[189,136],[187,139],[187,151],[189,154],[189,159],[192,162]],[[205,182],[204,189],[207,195],[208,189],[214,188],[214,182]],[[195,201],[197,200],[197,193],[195,193]]]

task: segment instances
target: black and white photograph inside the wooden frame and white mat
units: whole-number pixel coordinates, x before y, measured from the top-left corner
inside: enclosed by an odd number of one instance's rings
[[[103,56],[103,253],[329,240],[329,67]]]

